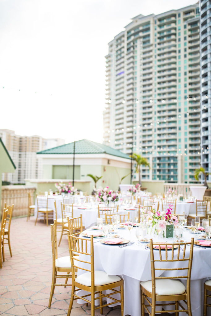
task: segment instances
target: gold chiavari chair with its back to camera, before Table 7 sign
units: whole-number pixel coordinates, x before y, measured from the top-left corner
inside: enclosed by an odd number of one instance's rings
[[[190,276],[193,260],[193,245],[194,238],[191,238],[191,242],[188,243],[174,243],[174,244],[164,244],[165,249],[161,249],[160,243],[152,243],[150,239],[150,259],[151,259],[151,273],[152,280],[140,282],[141,285],[141,316],[144,316],[144,312],[155,316],[156,313],[163,313],[162,306],[175,305],[175,309],[166,310],[165,313],[176,313],[178,316],[179,312],[186,312],[189,316],[192,316],[191,305],[190,305]],[[174,246],[177,245],[178,248],[174,249]],[[186,246],[189,245],[190,252],[185,255]],[[158,251],[156,250],[155,259],[154,258],[154,249],[153,246],[158,246]],[[168,250],[168,246],[171,246],[171,250]],[[182,251],[181,247],[183,247]],[[166,268],[166,264],[170,263],[182,263],[183,267],[178,268],[178,264],[175,264],[175,268]],[[171,265],[172,266],[172,265]],[[163,275],[164,271],[168,271],[168,276],[157,276]],[[172,271],[170,275],[169,271]],[[181,271],[182,275],[179,275]],[[186,279],[186,287],[179,279]],[[149,300],[152,300],[152,302]],[[148,304],[145,303],[145,300]],[[169,303],[165,304],[156,304],[156,301],[167,301]],[[171,302],[173,301],[173,303]],[[187,308],[183,307],[180,303],[183,301]],[[155,310],[156,307],[161,306],[160,310]],[[149,312],[148,307],[151,307],[151,313]],[[179,309],[179,307],[181,309]]]

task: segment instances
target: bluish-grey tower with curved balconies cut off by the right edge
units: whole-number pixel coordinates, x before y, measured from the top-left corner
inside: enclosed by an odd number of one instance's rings
[[[211,173],[211,1],[200,6],[202,167]]]

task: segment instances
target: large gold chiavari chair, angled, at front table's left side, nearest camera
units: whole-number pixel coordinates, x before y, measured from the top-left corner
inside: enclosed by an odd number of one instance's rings
[[[95,270],[93,236],[90,237],[90,240],[87,240],[86,238],[80,238],[68,234],[68,246],[72,267],[72,286],[67,316],[70,316],[73,301],[78,299],[82,299],[91,304],[91,316],[95,315],[96,309],[100,308],[100,313],[102,314],[103,307],[108,305],[110,306],[114,303],[121,303],[121,316],[123,316],[123,280],[119,276],[108,275],[105,271]],[[88,249],[90,249],[90,251],[88,251]],[[79,257],[74,257],[75,254],[79,254]],[[85,259],[85,261],[82,260],[81,256]],[[76,277],[75,269],[81,269],[85,272]],[[117,287],[120,287],[120,290],[115,289]],[[76,291],[79,289],[90,292],[90,294],[79,296],[79,294],[76,294]],[[109,290],[109,293],[102,294],[102,291],[106,290]],[[120,293],[120,300],[111,296],[117,293]],[[88,300],[89,296],[91,296],[91,300]],[[102,301],[106,297],[108,297],[110,300],[113,300],[114,302],[112,301],[109,302],[109,304],[103,304]],[[100,300],[100,306],[95,307],[95,300],[97,299]]]

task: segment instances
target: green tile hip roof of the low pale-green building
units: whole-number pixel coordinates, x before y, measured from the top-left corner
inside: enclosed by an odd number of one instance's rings
[[[37,152],[37,154],[73,154],[73,143],[57,146],[51,149],[46,149]],[[81,139],[76,141],[75,154],[108,154],[121,158],[130,159],[127,154],[121,151],[111,148],[109,146],[92,142],[88,139]]]

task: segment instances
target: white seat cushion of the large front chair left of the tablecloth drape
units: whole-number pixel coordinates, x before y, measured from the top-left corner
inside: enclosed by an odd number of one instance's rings
[[[105,271],[95,271],[95,286],[114,283],[120,280],[121,278],[119,276],[108,275]],[[91,273],[83,273],[80,276],[77,276],[75,281],[85,286],[91,286]]]

